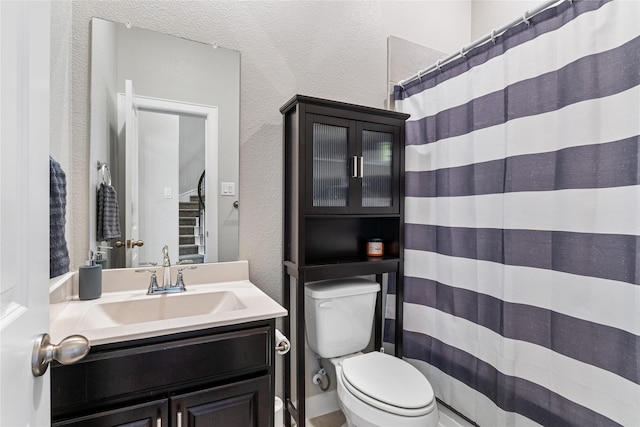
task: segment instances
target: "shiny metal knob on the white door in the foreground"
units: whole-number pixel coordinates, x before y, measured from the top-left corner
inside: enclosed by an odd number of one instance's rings
[[[69,365],[84,358],[91,348],[89,340],[82,335],[70,335],[58,345],[51,344],[50,339],[49,334],[42,334],[33,344],[31,372],[34,377],[44,375],[53,360]]]

